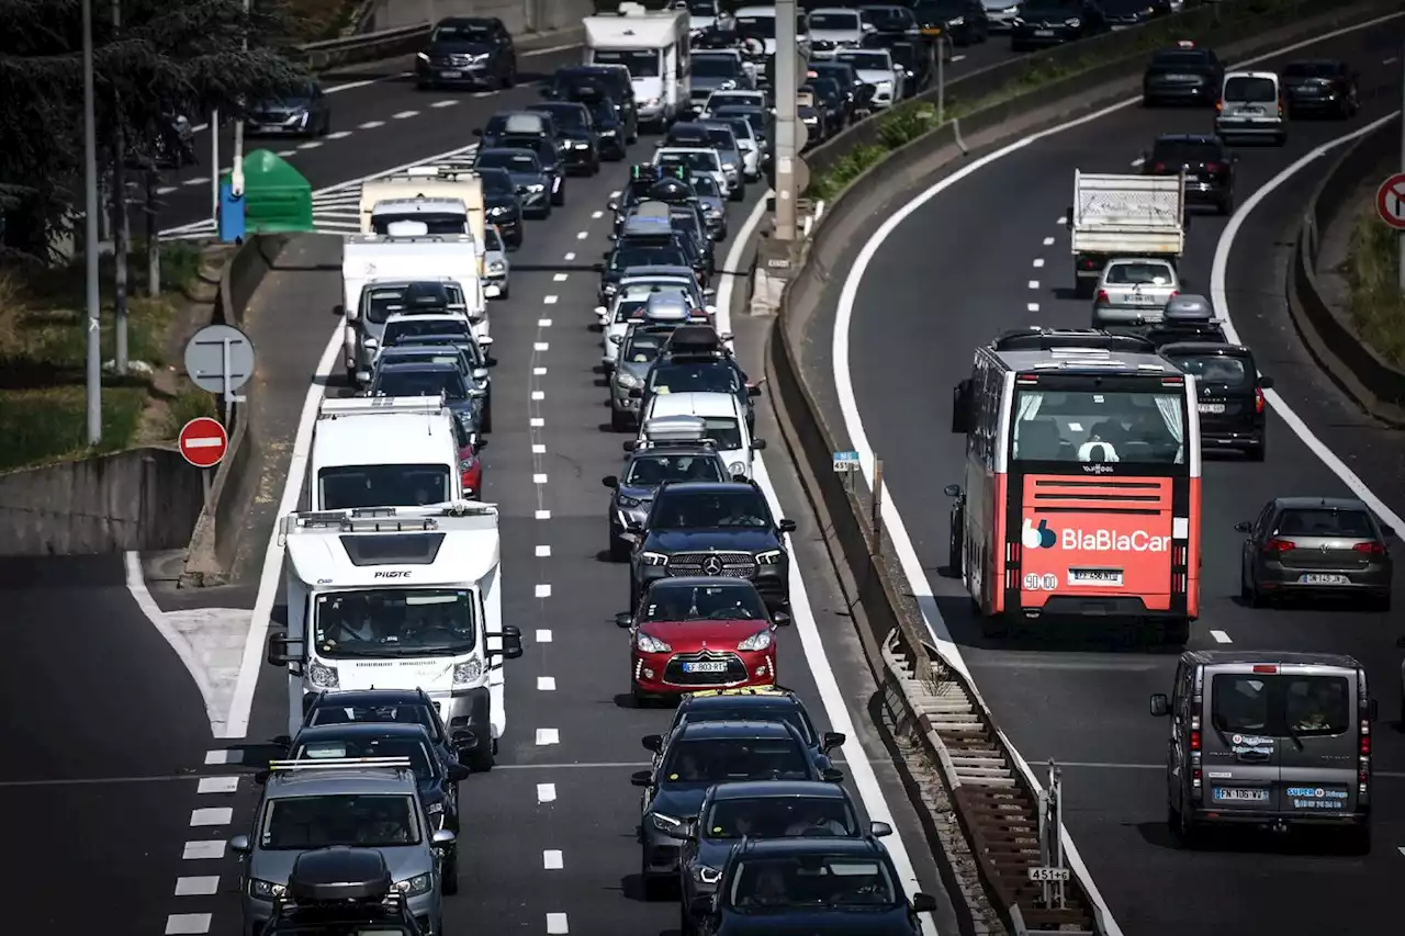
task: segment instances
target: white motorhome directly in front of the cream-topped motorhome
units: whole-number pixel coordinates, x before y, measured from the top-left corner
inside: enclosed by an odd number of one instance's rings
[[[355,384],[371,379],[371,354],[367,337],[379,340],[385,315],[377,315],[368,288],[377,284],[441,281],[457,285],[462,312],[473,323],[479,342],[489,343],[488,299],[479,277],[478,243],[472,235],[424,235],[419,238],[382,238],[351,235],[341,247],[341,305],[344,316],[343,349],[347,377]]]

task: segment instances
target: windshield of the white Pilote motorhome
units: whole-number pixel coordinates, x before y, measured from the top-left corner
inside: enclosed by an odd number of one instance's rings
[[[319,593],[315,600],[312,642],[323,659],[457,656],[473,649],[475,596],[468,589],[362,589]]]

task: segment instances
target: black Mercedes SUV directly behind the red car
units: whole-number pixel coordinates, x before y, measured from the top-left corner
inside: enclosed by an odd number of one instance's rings
[[[770,611],[790,611],[794,520],[776,520],[754,481],[665,483],[641,527],[629,523],[629,607],[651,582],[722,575],[756,585]]]

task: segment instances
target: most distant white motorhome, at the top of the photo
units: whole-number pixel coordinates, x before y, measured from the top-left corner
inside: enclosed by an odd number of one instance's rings
[[[663,129],[687,107],[693,63],[686,10],[620,4],[618,15],[586,17],[586,65],[629,69],[639,122]]]

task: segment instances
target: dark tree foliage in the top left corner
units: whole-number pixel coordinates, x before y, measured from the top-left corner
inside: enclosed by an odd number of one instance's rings
[[[237,115],[305,80],[278,48],[281,0],[93,3],[100,171],[122,129],[152,152],[171,115]],[[244,49],[247,37],[249,48]],[[45,259],[52,235],[83,209],[83,0],[0,0],[0,211],[6,246]]]

